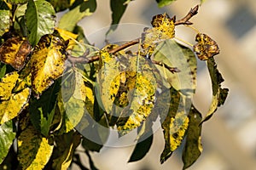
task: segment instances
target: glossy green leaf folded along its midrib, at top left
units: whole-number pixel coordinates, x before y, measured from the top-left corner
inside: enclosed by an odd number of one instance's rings
[[[55,28],[55,9],[44,0],[29,0],[26,8],[27,37],[32,46]]]

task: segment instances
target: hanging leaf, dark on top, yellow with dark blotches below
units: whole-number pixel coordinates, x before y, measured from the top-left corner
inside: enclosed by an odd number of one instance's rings
[[[189,126],[189,117],[185,113],[183,96],[171,88],[171,104],[168,115],[162,123],[164,138],[166,141],[165,149],[160,156],[160,162],[165,162],[172,152],[182,143],[184,135]],[[162,117],[161,117],[162,119]]]

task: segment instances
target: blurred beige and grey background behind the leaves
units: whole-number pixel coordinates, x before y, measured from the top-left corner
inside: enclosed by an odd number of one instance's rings
[[[79,25],[85,35],[111,23],[109,1],[98,1],[96,13],[82,20]],[[177,0],[166,8],[158,8],[154,0],[132,1],[121,23],[150,26],[155,14],[166,12],[177,19],[185,16],[199,0]],[[194,26],[206,33],[221,50],[215,56],[218,70],[230,88],[225,105],[220,107],[208,122],[203,124],[201,157],[189,170],[253,170],[256,169],[256,3],[255,0],[207,0],[199,14],[191,20]],[[132,32],[131,32],[132,33]],[[177,26],[176,35],[195,44],[196,32],[186,26]],[[139,35],[138,35],[139,36]],[[211,82],[204,61],[198,61],[198,85],[195,106],[206,114],[211,103]],[[101,170],[158,170],[182,169],[182,150],[177,150],[160,165],[160,153],[164,149],[161,130],[154,133],[154,143],[142,161],[127,163],[133,146],[123,148],[104,147],[93,153],[96,167]],[[83,156],[88,165],[88,158]],[[73,169],[77,169],[73,166]]]

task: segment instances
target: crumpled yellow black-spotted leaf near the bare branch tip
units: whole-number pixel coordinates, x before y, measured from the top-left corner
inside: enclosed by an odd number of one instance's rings
[[[153,28],[144,28],[142,34],[142,47],[148,54],[152,54],[159,42],[171,39],[175,36],[175,17],[172,19],[168,14],[157,14],[153,17],[151,25]]]

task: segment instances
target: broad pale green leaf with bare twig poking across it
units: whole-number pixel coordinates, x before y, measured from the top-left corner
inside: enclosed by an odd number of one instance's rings
[[[154,60],[170,67],[177,67],[178,72],[172,73],[164,67],[157,66],[163,78],[177,91],[191,98],[196,88],[195,54],[173,39],[161,42],[154,53]]]

